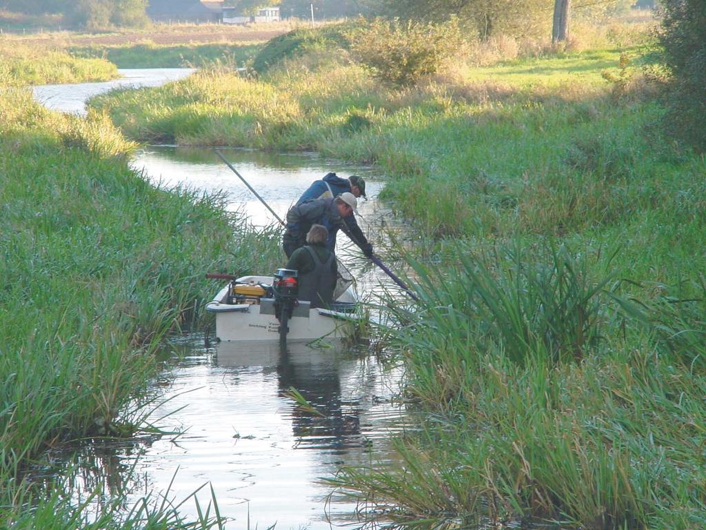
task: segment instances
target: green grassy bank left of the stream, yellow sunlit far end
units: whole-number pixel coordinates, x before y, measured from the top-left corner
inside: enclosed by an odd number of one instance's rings
[[[0,138],[0,526],[84,527],[60,496],[30,502],[23,471],[47,447],[143,427],[155,348],[213,290],[203,274],[271,268],[277,242],[219,196],[152,187],[100,114],[6,89]]]

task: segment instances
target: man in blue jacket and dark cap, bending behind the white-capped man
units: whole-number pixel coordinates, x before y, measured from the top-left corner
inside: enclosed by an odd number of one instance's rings
[[[315,180],[311,183],[306,192],[301,194],[296,206],[301,206],[308,201],[319,200],[319,199],[335,199],[335,197],[341,194],[349,193],[352,194],[356,199],[359,197],[365,197],[365,181],[361,179],[358,175],[351,175],[347,179],[342,179],[335,173],[327,173],[323,179]],[[342,217],[344,225],[342,226],[344,232],[351,238],[351,240],[358,245],[363,254],[366,257],[372,257],[373,255],[373,245],[370,244],[368,239],[365,237],[363,230],[360,229],[355,216],[352,214],[349,216]],[[330,232],[330,226],[327,226]],[[333,245],[329,245],[331,252],[335,249],[335,232],[333,235],[329,234],[329,239],[333,237]],[[286,249],[285,249],[286,252]]]

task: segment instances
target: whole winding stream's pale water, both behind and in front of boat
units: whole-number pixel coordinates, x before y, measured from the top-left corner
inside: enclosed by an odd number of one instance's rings
[[[155,86],[188,73],[143,73],[144,84]],[[83,94],[100,91],[80,87]],[[53,87],[51,106],[80,111],[78,90]],[[39,88],[35,93],[40,100],[47,94]],[[369,200],[361,201],[359,224],[376,245],[376,225],[386,212],[376,200],[382,181],[371,168],[306,154],[234,149],[223,153],[282,217],[325,173],[364,176]],[[228,207],[244,211],[255,225],[274,222],[212,150],[148,146],[136,154],[132,165],[162,187],[223,192]],[[340,256],[346,263],[355,251],[345,244],[345,235],[340,237]],[[364,293],[387,282],[369,265],[351,268]],[[325,350],[293,346],[282,357],[275,346],[206,347],[198,334],[174,338],[166,346],[170,360],[164,375],[155,382],[160,404],[152,418],[178,434],[109,449],[90,447],[74,455],[68,477],[73,495],[78,500],[102,485],[104,495],[96,502],[109,502],[118,490],[128,492],[131,501],[152,491],[180,502],[209,484],[199,491],[198,500],[202,507],[208,505],[213,488],[220,513],[235,521],[228,527],[266,529],[276,524],[277,529],[316,530],[352,524],[355,506],[330,495],[321,478],[332,477],[342,465],[390,458],[390,433],[403,425],[403,411],[395,401],[401,374],[383,370],[367,351],[345,351],[335,344]],[[298,407],[286,395],[291,387],[318,413]],[[189,500],[179,511],[196,515],[196,504]]]

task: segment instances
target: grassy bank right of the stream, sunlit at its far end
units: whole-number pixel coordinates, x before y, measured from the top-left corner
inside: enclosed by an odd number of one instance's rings
[[[417,49],[385,24],[391,55]],[[706,161],[666,134],[646,25],[466,42],[414,78],[366,61],[381,45],[366,28],[300,30],[254,76],[92,101],[133,139],[309,149],[388,175],[382,196],[424,242],[390,249],[420,301],[384,330],[421,428],[398,469],[332,481],[370,517],[706,524]]]

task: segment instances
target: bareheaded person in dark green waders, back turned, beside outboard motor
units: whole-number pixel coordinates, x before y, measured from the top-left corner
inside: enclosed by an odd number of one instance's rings
[[[306,245],[292,252],[286,268],[297,271],[299,300],[311,302],[311,307],[329,307],[336,288],[338,265],[333,252],[326,247],[328,230],[323,225],[311,225]]]

